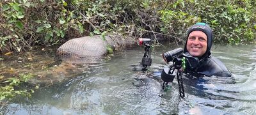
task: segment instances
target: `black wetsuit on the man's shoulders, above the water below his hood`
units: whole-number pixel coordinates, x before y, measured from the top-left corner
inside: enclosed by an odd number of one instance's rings
[[[201,59],[199,61],[199,65],[196,68],[191,69],[188,67],[187,72],[198,77],[202,75],[231,77],[232,75],[230,70],[228,70],[228,68],[214,56],[208,56],[204,59]]]

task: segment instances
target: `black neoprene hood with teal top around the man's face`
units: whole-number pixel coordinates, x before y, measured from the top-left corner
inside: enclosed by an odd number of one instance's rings
[[[184,52],[188,52],[187,49],[187,42],[188,42],[188,36],[192,31],[202,31],[206,34],[207,36],[207,50],[205,52],[205,54],[202,57],[205,56],[210,56],[211,55],[211,47],[212,47],[212,41],[213,41],[213,34],[212,34],[212,29],[208,24],[202,23],[202,22],[198,22],[196,24],[194,24],[193,26],[189,27],[189,29],[186,31],[186,45],[184,48]]]

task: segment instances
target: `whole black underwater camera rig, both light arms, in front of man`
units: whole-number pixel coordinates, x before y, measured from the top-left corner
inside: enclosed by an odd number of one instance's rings
[[[151,66],[151,50],[150,43],[151,39],[149,38],[139,38],[138,45],[144,45],[145,53],[141,60],[141,65],[143,66],[142,70],[147,70],[148,66]],[[168,66],[168,68],[164,68],[161,73],[161,79],[163,82],[163,89],[168,85],[169,82],[173,82],[175,76],[177,76],[177,81],[179,84],[179,94],[181,98],[184,98],[184,86],[182,80],[182,73],[186,73],[187,68],[196,68],[199,63],[199,59],[197,57],[191,56],[188,52],[184,53],[182,48],[177,48],[170,50],[168,52],[164,52],[162,54],[163,59],[166,63],[172,61],[172,65]],[[176,70],[176,71],[175,71]]]

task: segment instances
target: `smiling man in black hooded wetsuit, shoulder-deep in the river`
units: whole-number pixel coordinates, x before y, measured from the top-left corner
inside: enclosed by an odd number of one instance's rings
[[[198,57],[199,65],[188,68],[188,72],[205,76],[231,77],[228,68],[216,57],[211,55],[213,41],[212,29],[209,25],[199,22],[189,27],[184,52],[189,52],[193,57]]]

